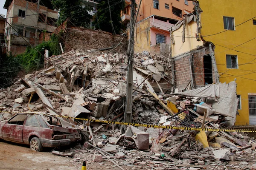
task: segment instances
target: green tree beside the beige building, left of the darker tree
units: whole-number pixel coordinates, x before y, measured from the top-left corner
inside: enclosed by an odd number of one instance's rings
[[[88,14],[93,7],[82,3],[82,0],[52,0],[53,6],[59,10],[57,24],[63,23],[67,18],[75,26],[89,27],[92,16]]]

